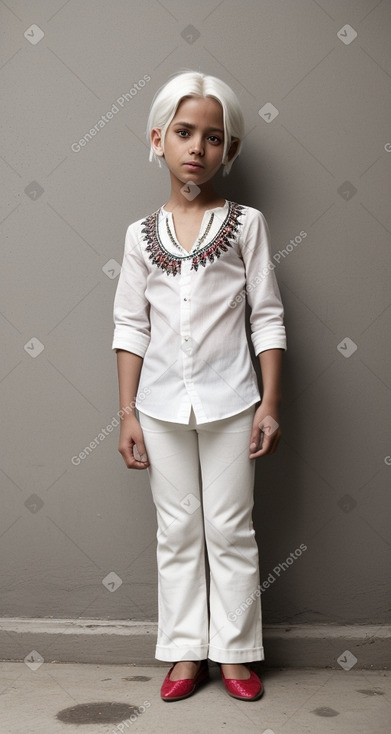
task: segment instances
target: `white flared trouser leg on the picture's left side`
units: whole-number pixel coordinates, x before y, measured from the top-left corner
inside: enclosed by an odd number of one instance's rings
[[[202,660],[209,623],[198,436],[142,413],[140,424],[158,525],[156,658]]]

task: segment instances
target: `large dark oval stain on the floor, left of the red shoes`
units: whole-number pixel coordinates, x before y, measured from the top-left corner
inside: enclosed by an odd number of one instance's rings
[[[115,701],[80,703],[59,711],[56,718],[65,724],[118,724],[138,713],[137,706]]]

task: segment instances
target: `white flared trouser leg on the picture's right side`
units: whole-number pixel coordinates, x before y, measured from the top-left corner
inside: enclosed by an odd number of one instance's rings
[[[258,546],[252,521],[254,410],[199,433],[206,547],[210,567],[208,657],[220,663],[264,659]]]

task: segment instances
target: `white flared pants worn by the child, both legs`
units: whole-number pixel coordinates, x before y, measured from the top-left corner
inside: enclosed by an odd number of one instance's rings
[[[199,426],[193,411],[187,425],[139,413],[158,523],[158,660],[264,659],[248,458],[254,410]]]

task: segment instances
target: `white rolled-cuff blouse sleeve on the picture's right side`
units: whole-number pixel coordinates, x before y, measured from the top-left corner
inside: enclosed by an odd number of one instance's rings
[[[251,309],[251,340],[258,355],[266,349],[286,350],[287,345],[284,308],[271,257],[269,227],[262,212],[251,208],[249,214],[241,254]]]

